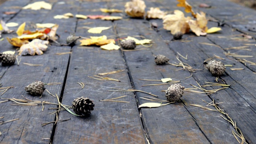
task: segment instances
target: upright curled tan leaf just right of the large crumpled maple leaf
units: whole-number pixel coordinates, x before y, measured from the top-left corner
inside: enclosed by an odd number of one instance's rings
[[[200,12],[200,14],[196,13],[196,20],[188,21],[188,25],[197,36],[205,36],[208,30],[207,22],[208,20],[206,19],[205,13]]]

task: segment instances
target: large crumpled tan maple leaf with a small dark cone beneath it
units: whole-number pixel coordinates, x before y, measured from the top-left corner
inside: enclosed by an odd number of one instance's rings
[[[170,30],[172,34],[182,32],[183,34],[189,32],[188,20],[191,18],[185,17],[180,10],[174,10],[174,14],[168,14],[163,17],[164,29]]]

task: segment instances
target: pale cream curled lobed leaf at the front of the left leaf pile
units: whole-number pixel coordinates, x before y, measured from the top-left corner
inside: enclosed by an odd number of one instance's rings
[[[31,56],[34,56],[35,54],[37,55],[42,55],[44,54],[44,51],[48,48],[46,44],[49,44],[48,40],[40,40],[40,39],[34,39],[28,44],[23,44],[20,47],[19,56],[25,56],[27,54],[30,54]]]

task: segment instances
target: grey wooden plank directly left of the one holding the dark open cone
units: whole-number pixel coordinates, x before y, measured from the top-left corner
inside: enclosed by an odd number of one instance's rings
[[[71,4],[63,4],[62,6],[53,7],[52,11],[49,12],[49,16],[53,17],[57,14],[56,9],[60,10],[72,10]],[[26,10],[28,12],[29,10]],[[26,13],[25,12],[25,13]],[[43,10],[43,12],[46,12]],[[75,10],[73,10],[75,12]],[[20,12],[23,14],[22,12]],[[74,13],[75,14],[75,13]],[[17,15],[18,22],[24,22],[26,20],[31,20],[34,22],[56,22],[55,19],[47,19],[48,14],[38,14],[41,19],[36,19],[35,17],[30,18]],[[45,20],[44,20],[45,17]],[[15,20],[14,18],[13,20]],[[66,27],[75,28],[76,21],[72,20],[72,22],[59,23],[60,26],[60,35],[64,35],[64,29]],[[63,41],[65,41],[64,38]],[[10,44],[7,45],[11,48]],[[42,82],[49,83],[49,82],[64,82],[68,61],[69,61],[69,54],[65,55],[56,55],[55,53],[60,52],[70,52],[70,47],[68,46],[50,46],[46,52],[44,52],[41,56],[22,56],[22,61],[20,66],[14,65],[10,66],[10,68],[5,72],[4,76],[1,79],[1,83],[3,86],[15,86],[8,90],[4,95],[1,97],[5,98],[19,98],[22,99],[21,95],[25,96],[26,98],[32,100],[46,100],[49,102],[57,103],[56,98],[50,96],[46,92],[44,92],[43,97],[39,99],[38,97],[30,96],[27,92],[24,91],[24,87],[28,84],[36,81],[41,80]],[[23,62],[33,63],[33,64],[43,64],[44,66],[27,66],[24,65]],[[19,80],[19,82],[17,82]],[[54,85],[54,86],[46,86],[52,94],[57,94],[60,96],[62,93],[62,85]],[[0,137],[0,142],[2,143],[49,143],[49,140],[42,141],[42,138],[51,138],[52,130],[54,130],[53,124],[48,124],[44,127],[41,126],[42,123],[51,122],[55,119],[55,115],[47,114],[47,108],[56,107],[56,105],[45,105],[44,111],[40,106],[10,106],[11,102],[1,103],[0,109],[1,114],[4,116],[4,120],[11,120],[14,118],[20,118],[17,121],[12,123],[7,123],[2,125],[1,132],[2,136]],[[18,110],[17,110],[18,109]],[[60,119],[59,119],[60,120]]]

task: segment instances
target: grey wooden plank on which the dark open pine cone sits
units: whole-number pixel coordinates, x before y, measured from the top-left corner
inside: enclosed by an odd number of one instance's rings
[[[101,12],[92,12],[92,10],[103,8],[105,5],[106,2],[82,3],[80,14],[101,14]],[[87,25],[84,25],[84,23],[87,23]],[[76,35],[84,37],[114,35],[112,28],[104,30],[101,34],[91,34],[82,26],[108,27],[112,26],[111,21],[79,20]],[[111,90],[110,87],[132,88],[120,52],[118,50],[101,50],[96,46],[74,46],[72,51],[62,103],[71,105],[75,98],[83,96],[94,100],[95,107],[88,118],[80,118],[68,112],[60,112],[59,118],[71,118],[71,120],[57,124],[53,142],[145,143],[143,127],[133,92],[106,91]],[[95,80],[88,77],[102,72],[122,69],[125,71],[103,76],[115,78],[121,82]],[[85,84],[84,89],[81,89],[81,86],[76,82],[83,82]],[[99,102],[102,99],[116,98],[124,95],[127,95],[127,97],[120,100],[130,103]]]

